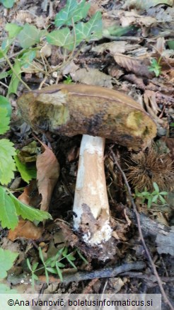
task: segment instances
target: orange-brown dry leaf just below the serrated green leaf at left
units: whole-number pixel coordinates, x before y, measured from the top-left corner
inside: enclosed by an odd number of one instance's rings
[[[12,231],[9,231],[8,239],[14,241],[18,237],[23,237],[26,239],[37,240],[42,236],[43,227],[37,227],[33,222],[25,221],[20,219],[18,226]]]

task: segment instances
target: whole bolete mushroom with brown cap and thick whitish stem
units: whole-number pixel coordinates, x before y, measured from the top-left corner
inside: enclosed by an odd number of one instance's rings
[[[83,134],[74,229],[88,246],[102,248],[112,238],[103,155],[105,139],[132,149],[145,148],[156,136],[156,124],[132,98],[99,86],[48,86],[23,94],[18,107],[34,130],[67,136]]]

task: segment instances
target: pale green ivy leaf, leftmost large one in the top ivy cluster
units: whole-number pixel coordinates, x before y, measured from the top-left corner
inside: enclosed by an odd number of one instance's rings
[[[40,30],[38,30],[35,25],[25,23],[23,30],[21,30],[17,38],[21,47],[31,47],[40,41]]]

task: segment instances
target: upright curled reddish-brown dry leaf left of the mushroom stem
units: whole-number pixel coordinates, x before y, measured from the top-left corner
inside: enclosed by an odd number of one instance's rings
[[[42,142],[41,142],[42,143]],[[45,151],[37,156],[37,186],[42,195],[40,209],[48,211],[52,191],[59,178],[59,163],[53,151],[42,143]]]

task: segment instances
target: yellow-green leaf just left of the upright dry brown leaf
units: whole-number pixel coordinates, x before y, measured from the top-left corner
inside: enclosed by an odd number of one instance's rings
[[[14,156],[16,167],[18,168],[18,171],[21,173],[21,177],[23,180],[25,180],[26,183],[29,183],[30,180],[33,178],[36,178],[36,167],[35,163],[22,163],[20,159],[18,159],[18,156]]]

